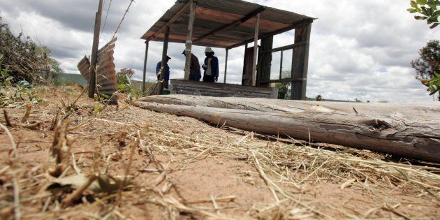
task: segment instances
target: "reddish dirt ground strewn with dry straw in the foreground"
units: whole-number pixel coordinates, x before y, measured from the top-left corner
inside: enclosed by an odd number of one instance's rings
[[[0,219],[440,218],[436,164],[37,89],[27,119],[25,102],[5,108],[16,150],[1,129]],[[79,174],[116,188],[68,201],[78,187],[57,179]]]

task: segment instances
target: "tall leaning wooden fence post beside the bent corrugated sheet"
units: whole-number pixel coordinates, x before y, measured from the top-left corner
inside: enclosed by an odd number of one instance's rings
[[[103,15],[103,0],[99,0],[98,12],[95,17],[93,47],[91,48],[89,98],[95,97],[96,64],[98,63],[99,31],[101,30],[101,16]]]

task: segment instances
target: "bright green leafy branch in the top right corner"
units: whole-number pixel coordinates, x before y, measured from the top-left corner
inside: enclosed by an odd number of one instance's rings
[[[439,0],[416,0],[411,1],[409,13],[418,13],[414,16],[416,20],[426,20],[427,24],[431,24],[430,28],[435,28],[440,24],[440,1]]]

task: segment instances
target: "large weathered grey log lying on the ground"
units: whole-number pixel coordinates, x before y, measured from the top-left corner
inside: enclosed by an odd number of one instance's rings
[[[327,103],[265,98],[150,96],[140,108],[270,135],[440,163],[440,103]],[[197,105],[197,106],[194,106]]]

